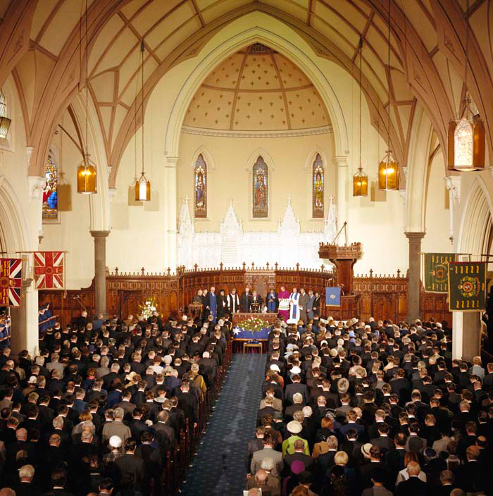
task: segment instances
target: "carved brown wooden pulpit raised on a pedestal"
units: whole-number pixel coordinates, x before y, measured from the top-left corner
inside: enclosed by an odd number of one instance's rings
[[[320,243],[318,256],[320,259],[328,259],[335,265],[336,286],[341,288],[341,305],[326,305],[327,316],[332,316],[337,320],[349,320],[359,314],[359,299],[361,294],[353,292],[353,267],[361,259],[363,250],[361,243],[344,244],[339,246],[335,244],[337,237],[342,229],[346,230],[346,223],[342,226],[339,233],[332,243]]]

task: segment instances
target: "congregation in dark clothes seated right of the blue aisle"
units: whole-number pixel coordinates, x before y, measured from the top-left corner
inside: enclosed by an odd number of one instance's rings
[[[447,323],[323,322],[268,336],[249,496],[491,494],[493,363]]]

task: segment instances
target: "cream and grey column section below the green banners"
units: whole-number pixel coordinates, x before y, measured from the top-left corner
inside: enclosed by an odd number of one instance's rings
[[[452,358],[471,360],[481,349],[481,313],[452,313]]]

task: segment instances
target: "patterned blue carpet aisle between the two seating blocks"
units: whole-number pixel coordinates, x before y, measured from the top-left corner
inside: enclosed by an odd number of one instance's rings
[[[193,466],[184,496],[240,496],[246,481],[246,448],[254,437],[266,355],[235,354]]]

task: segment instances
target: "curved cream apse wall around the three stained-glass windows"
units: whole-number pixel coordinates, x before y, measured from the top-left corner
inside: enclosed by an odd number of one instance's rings
[[[196,231],[217,231],[230,199],[244,231],[275,231],[291,197],[294,214],[301,221],[301,230],[322,230],[323,219],[312,218],[311,165],[317,150],[325,168],[325,214],[329,196],[337,192],[336,166],[333,161],[332,135],[300,137],[211,137],[182,133],[180,140],[180,166],[178,168],[178,197],[190,199],[193,212],[194,162],[202,147],[213,163],[208,163],[208,209],[206,219],[195,219]],[[263,154],[265,150],[268,153]],[[251,167],[259,154],[269,169],[268,218],[252,218]],[[246,169],[249,171],[246,171]]]

